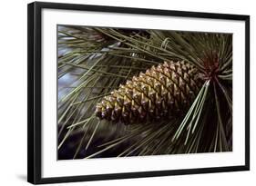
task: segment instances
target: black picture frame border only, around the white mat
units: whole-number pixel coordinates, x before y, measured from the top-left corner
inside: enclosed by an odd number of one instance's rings
[[[78,10],[91,12],[125,13],[138,15],[165,15],[177,17],[197,17],[245,22],[245,164],[215,168],[185,169],[175,171],[144,171],[98,175],[42,178],[41,172],[41,128],[42,128],[42,73],[41,73],[41,32],[42,9]],[[114,7],[100,5],[74,5],[36,2],[27,6],[27,181],[40,183],[68,181],[99,181],[140,177],[169,176],[223,171],[250,170],[250,16],[209,14],[198,12]]]

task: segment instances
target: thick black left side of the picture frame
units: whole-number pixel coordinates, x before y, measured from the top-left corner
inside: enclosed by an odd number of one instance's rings
[[[41,5],[27,5],[27,181],[41,176]]]

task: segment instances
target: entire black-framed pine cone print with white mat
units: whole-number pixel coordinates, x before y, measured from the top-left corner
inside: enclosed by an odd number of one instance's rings
[[[28,5],[29,182],[250,169],[250,16]]]

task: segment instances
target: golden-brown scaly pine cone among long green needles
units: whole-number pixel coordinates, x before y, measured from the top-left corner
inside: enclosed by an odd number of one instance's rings
[[[199,71],[189,63],[165,62],[139,73],[97,103],[96,115],[113,122],[147,122],[184,112],[200,91]]]

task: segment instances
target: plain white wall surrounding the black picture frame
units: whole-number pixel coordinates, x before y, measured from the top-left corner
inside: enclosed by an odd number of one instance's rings
[[[46,1],[46,0],[45,0]],[[252,185],[255,181],[255,114],[256,100],[256,11],[253,1],[235,0],[77,0],[63,3],[117,5],[198,12],[251,15],[251,171],[171,176],[118,181],[92,181],[72,185]],[[30,1],[9,0],[0,5],[0,184],[26,183],[26,4]],[[4,40],[4,42],[3,42]],[[14,117],[15,116],[15,117]],[[255,184],[255,183],[254,183]],[[62,185],[71,185],[70,183]]]

